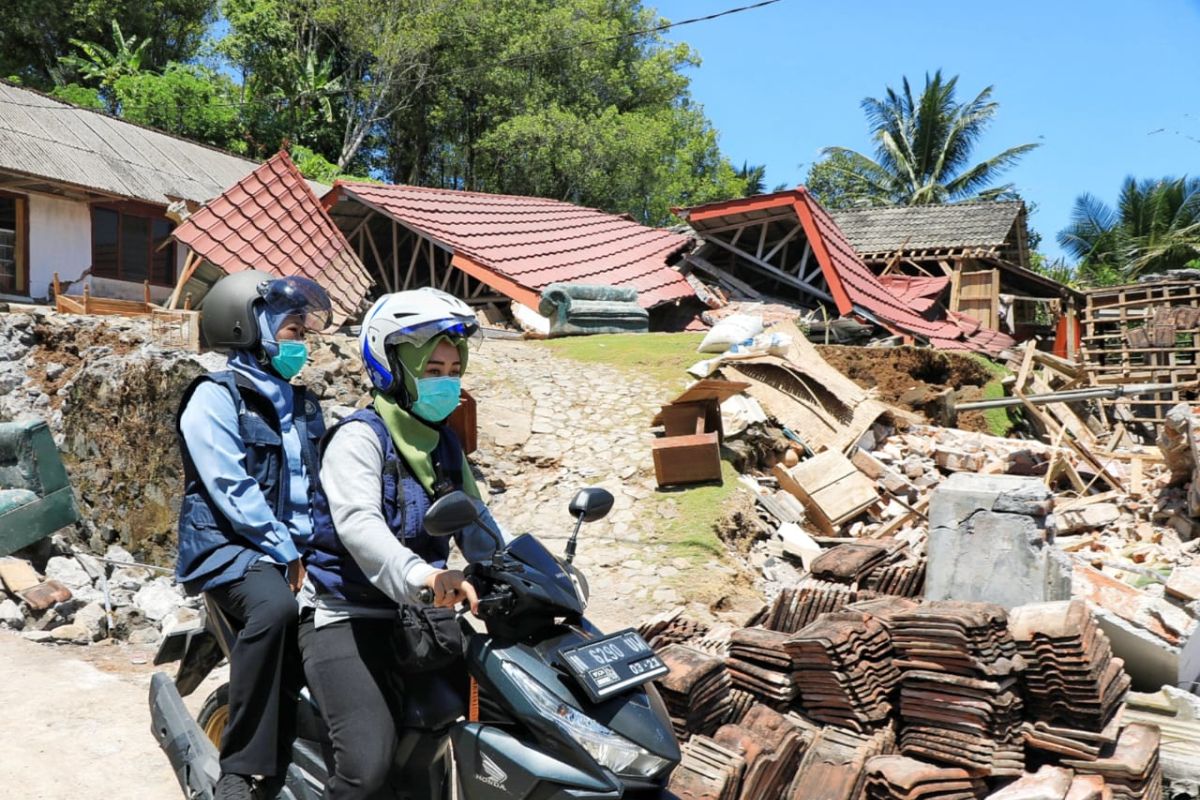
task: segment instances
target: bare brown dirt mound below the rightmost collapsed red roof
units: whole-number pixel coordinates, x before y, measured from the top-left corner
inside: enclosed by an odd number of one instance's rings
[[[926,348],[864,348],[818,345],[817,351],[833,367],[863,389],[874,389],[880,399],[925,414],[947,389],[959,401],[979,399],[983,387],[994,379],[983,363],[968,355]],[[959,415],[958,427],[988,431],[979,411]]]

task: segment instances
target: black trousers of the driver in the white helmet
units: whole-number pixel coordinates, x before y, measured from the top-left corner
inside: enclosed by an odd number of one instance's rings
[[[305,676],[334,745],[326,800],[386,794],[403,686],[396,682],[392,619],[300,622]]]

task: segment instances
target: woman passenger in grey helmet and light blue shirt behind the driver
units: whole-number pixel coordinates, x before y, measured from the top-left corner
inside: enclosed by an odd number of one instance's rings
[[[289,381],[307,359],[305,332],[329,325],[330,303],[307,278],[245,271],[222,278],[203,309],[205,342],[228,351],[228,368],[197,378],[180,402],[175,577],[241,625],[216,799],[250,800],[252,776],[282,781],[295,736],[294,595],[325,426],[317,398]]]

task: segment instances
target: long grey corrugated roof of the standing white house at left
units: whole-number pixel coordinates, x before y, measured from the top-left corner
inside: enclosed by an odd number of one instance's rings
[[[204,203],[256,166],[0,83],[0,170],[166,205]]]

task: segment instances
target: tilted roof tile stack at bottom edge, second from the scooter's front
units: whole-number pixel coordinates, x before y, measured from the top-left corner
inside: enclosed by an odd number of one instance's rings
[[[811,734],[760,704],[739,724],[722,726],[713,739],[745,759],[742,798],[779,800],[796,777],[796,766]]]

